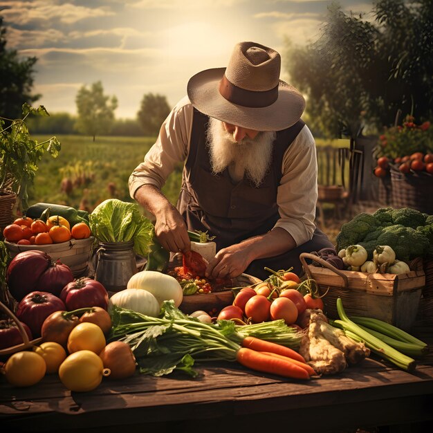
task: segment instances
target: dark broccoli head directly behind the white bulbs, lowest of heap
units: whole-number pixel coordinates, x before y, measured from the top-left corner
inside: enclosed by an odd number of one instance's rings
[[[430,242],[424,234],[401,224],[385,227],[377,239],[377,245],[389,245],[396,253],[396,258],[403,261],[421,257],[430,248]]]

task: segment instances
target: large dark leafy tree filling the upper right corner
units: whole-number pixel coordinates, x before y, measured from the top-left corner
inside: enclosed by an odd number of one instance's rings
[[[394,123],[396,113],[433,113],[433,2],[380,0],[374,21],[333,3],[317,42],[286,42],[291,82],[308,98],[313,127],[357,136],[366,123]]]

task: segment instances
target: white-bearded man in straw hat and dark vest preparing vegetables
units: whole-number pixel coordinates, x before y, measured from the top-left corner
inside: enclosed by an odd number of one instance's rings
[[[302,95],[279,80],[277,51],[254,42],[234,47],[227,68],[194,75],[158,140],[129,178],[131,197],[156,217],[169,251],[187,252],[187,229],[215,236],[206,276],[261,279],[293,266],[300,252],[332,247],[314,225],[315,142],[300,120]],[[175,208],[160,192],[185,161]]]

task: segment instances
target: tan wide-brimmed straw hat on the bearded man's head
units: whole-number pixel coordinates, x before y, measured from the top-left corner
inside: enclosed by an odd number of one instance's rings
[[[190,101],[202,113],[255,131],[280,131],[294,125],[305,100],[279,80],[279,53],[255,42],[240,42],[227,68],[194,75],[187,84]]]

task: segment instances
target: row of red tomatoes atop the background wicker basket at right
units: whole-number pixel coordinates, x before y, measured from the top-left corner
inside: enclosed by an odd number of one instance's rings
[[[415,152],[412,155],[398,156],[397,158],[387,158],[381,156],[377,160],[374,174],[377,177],[385,177],[389,173],[390,165],[394,165],[400,172],[407,174],[413,172],[427,172],[433,174],[433,154],[423,154]]]

